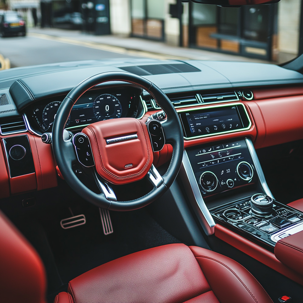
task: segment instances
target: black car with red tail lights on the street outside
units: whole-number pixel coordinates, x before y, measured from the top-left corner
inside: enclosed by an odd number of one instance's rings
[[[0,15],[0,37],[15,35],[26,35],[25,21],[17,12],[2,12]]]

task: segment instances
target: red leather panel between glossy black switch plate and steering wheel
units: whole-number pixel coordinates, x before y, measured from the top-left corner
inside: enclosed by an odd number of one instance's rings
[[[41,138],[28,135],[37,177],[37,190],[56,187],[56,165],[52,146],[42,142]]]

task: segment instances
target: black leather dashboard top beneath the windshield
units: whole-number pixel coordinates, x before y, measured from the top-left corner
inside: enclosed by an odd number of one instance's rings
[[[22,111],[31,103],[67,94],[79,82],[92,75],[108,71],[138,70],[153,65],[174,66],[166,74],[148,72],[143,75],[166,94],[206,89],[253,87],[303,83],[303,75],[277,65],[251,62],[160,61],[155,59],[112,59],[79,61],[12,68],[0,72],[0,90],[9,88],[16,109]],[[178,65],[189,69],[178,71]],[[190,68],[192,67],[192,68]],[[154,68],[154,69],[155,69]],[[191,72],[191,70],[193,70]],[[105,86],[108,86],[106,83]],[[102,87],[102,85],[101,85]],[[100,88],[101,88],[100,87]],[[147,92],[143,92],[147,94]]]

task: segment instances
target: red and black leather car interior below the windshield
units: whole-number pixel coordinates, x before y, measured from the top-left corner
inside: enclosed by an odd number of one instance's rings
[[[302,56],[1,71],[0,301],[302,302]]]

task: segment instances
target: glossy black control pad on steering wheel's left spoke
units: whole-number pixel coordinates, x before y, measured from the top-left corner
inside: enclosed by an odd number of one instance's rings
[[[94,166],[95,160],[87,135],[83,133],[76,134],[73,138],[73,144],[78,161],[86,167]]]

